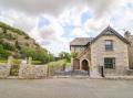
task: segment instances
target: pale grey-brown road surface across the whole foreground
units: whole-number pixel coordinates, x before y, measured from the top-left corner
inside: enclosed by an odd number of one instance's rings
[[[0,98],[133,98],[133,80],[0,79]]]

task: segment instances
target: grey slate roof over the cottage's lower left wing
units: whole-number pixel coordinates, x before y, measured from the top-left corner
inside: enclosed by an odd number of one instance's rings
[[[75,37],[70,45],[88,45],[93,37]]]

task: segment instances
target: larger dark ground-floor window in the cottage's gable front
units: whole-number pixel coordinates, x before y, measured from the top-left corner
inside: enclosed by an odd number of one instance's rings
[[[104,58],[104,68],[115,68],[115,58],[114,57],[105,57]]]

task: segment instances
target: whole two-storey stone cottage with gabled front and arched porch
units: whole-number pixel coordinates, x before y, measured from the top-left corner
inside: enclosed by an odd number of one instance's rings
[[[75,37],[70,43],[72,68],[88,70],[90,76],[100,76],[100,67],[108,75],[126,75],[133,68],[133,36],[125,32],[122,36],[111,26],[105,28],[96,37]]]

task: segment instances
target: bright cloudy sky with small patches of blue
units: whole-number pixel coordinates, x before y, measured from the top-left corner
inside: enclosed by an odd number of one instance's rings
[[[108,25],[132,33],[133,0],[0,0],[0,21],[58,55],[74,37],[94,37]]]

